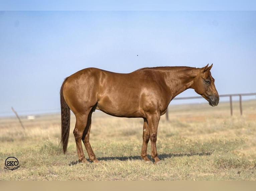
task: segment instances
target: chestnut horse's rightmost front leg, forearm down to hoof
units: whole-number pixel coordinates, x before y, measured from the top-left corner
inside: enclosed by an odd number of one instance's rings
[[[157,128],[158,128],[159,120],[160,120],[160,113],[147,115],[149,138],[151,143],[151,157],[155,161],[154,164],[161,162],[157,156],[157,151],[156,151]]]

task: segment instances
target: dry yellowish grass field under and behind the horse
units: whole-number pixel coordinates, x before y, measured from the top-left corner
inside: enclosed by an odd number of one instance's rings
[[[158,165],[140,158],[141,118],[94,112],[90,142],[100,163],[76,162],[74,115],[66,155],[60,114],[21,117],[25,130],[15,117],[0,118],[0,180],[256,180],[256,101],[243,101],[242,116],[233,106],[230,116],[229,103],[171,104],[159,123]],[[18,169],[4,169],[10,156]]]

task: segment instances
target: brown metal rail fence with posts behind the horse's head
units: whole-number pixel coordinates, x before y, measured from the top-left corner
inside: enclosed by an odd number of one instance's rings
[[[256,93],[249,93],[249,94],[224,94],[219,95],[220,97],[229,97],[230,102],[230,114],[233,115],[233,103],[232,103],[232,97],[233,96],[239,96],[239,106],[240,106],[240,114],[243,114],[243,108],[242,108],[242,96],[256,96]],[[175,97],[173,100],[180,100],[180,99],[198,99],[202,98],[202,96],[192,96],[192,97]],[[256,98],[256,97],[255,97]],[[166,111],[166,119],[168,120],[168,109]]]

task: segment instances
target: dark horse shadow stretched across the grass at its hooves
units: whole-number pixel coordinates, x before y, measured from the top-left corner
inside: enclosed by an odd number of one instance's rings
[[[165,158],[171,158],[171,157],[181,157],[181,156],[208,156],[211,155],[212,152],[202,152],[202,153],[180,153],[180,154],[159,154],[158,157],[160,160],[164,160]],[[148,155],[148,158],[153,161],[150,155]],[[98,158],[99,161],[108,161],[108,160],[120,160],[120,161],[127,161],[127,160],[142,160],[141,156],[114,156],[114,157],[100,157]],[[91,162],[89,159],[87,159],[88,162]],[[69,165],[75,165],[80,163],[81,161],[72,161],[69,163]]]

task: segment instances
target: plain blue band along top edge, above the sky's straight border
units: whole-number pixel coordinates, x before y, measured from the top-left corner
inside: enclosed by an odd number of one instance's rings
[[[2,10],[54,11],[254,11],[254,0],[0,0]]]

